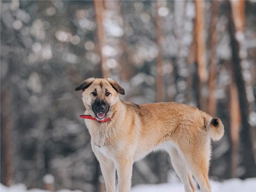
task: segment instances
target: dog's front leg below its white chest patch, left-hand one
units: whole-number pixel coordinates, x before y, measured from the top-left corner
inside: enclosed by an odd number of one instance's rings
[[[116,168],[114,162],[100,153],[96,153],[96,157],[100,162],[100,169],[107,192],[116,192]]]

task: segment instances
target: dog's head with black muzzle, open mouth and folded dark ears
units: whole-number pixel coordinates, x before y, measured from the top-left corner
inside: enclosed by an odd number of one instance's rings
[[[91,116],[102,120],[111,116],[115,104],[119,101],[118,93],[124,95],[124,89],[113,79],[88,78],[77,90],[82,90],[82,100]]]

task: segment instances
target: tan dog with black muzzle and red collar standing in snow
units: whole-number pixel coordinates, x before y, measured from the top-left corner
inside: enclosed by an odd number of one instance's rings
[[[134,104],[120,100],[124,89],[111,78],[88,78],[82,90],[85,124],[91,136],[107,192],[129,192],[132,164],[154,150],[166,150],[186,192],[210,192],[210,142],[220,140],[224,126],[196,107],[176,102]],[[81,116],[83,117],[83,116]]]

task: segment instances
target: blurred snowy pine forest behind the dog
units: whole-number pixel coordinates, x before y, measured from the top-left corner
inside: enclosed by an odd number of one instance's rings
[[[256,176],[255,1],[1,1],[1,183],[104,191],[81,92],[112,77],[123,100],[175,101],[218,116],[210,178]],[[132,185],[178,180],[168,154]]]

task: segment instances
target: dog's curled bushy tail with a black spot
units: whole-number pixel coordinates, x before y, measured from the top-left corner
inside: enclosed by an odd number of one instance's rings
[[[205,122],[206,128],[210,138],[214,141],[218,141],[224,135],[224,125],[219,118],[206,118],[208,122]],[[207,121],[207,120],[206,120]]]

